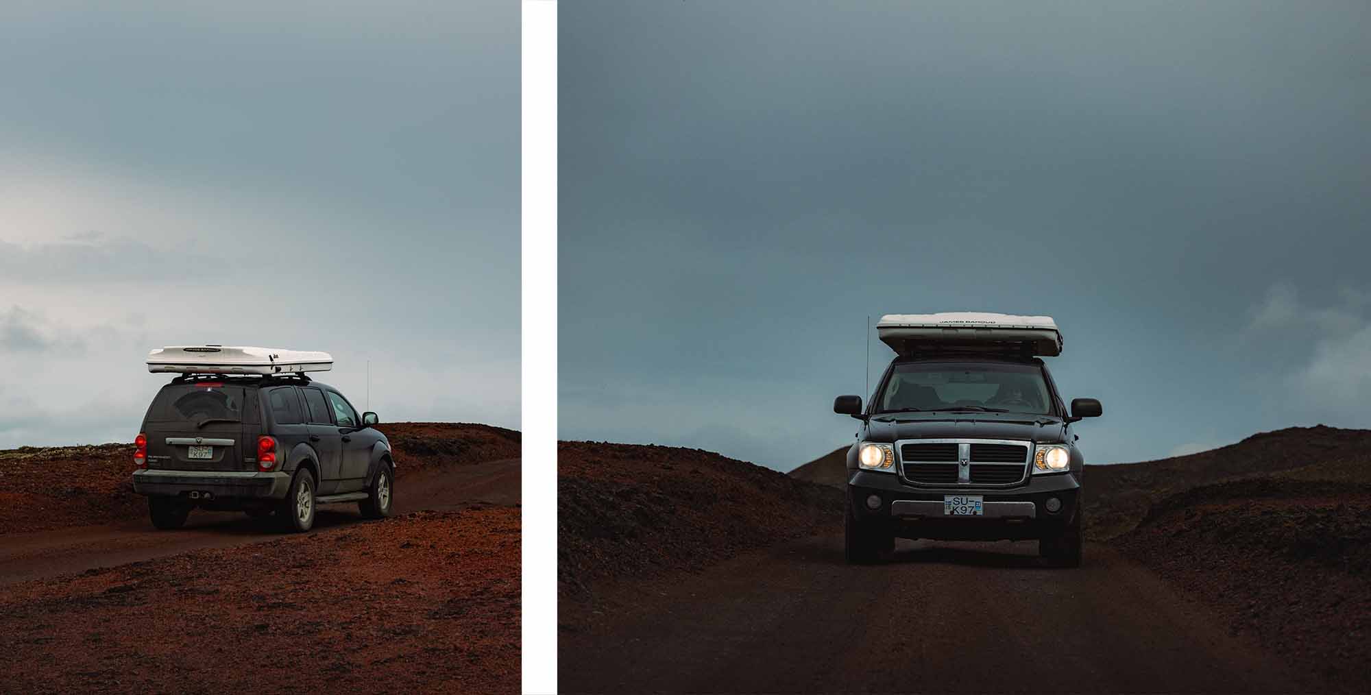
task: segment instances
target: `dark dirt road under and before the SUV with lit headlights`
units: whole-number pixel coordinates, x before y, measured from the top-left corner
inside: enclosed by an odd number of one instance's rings
[[[617,585],[562,615],[563,692],[1281,692],[1302,690],[1211,611],[1098,544],[901,541],[849,566],[840,536]]]

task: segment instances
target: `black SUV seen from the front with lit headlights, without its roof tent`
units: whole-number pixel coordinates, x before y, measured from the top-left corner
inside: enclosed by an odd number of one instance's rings
[[[897,356],[872,403],[839,396],[862,421],[847,452],[846,552],[873,562],[895,537],[1038,539],[1039,554],[1080,565],[1082,469],[1071,411],[1042,359],[921,351]]]

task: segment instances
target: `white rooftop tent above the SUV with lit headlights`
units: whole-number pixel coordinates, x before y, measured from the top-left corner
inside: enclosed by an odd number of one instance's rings
[[[882,343],[901,355],[946,351],[1002,352],[1031,356],[1061,354],[1061,332],[1052,317],[1017,317],[980,311],[886,314],[876,324]]]

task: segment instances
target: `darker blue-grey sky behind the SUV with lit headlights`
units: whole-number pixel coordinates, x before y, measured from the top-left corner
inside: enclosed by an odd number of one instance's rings
[[[866,317],[1047,314],[1087,462],[1371,414],[1366,3],[559,12],[559,436],[780,470]],[[871,381],[893,352],[871,336]]]

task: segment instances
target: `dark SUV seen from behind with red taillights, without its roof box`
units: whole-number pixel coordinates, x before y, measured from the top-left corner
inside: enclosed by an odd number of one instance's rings
[[[184,376],[158,391],[136,440],[133,491],[152,524],[174,529],[195,507],[276,515],[308,531],[317,504],[391,514],[395,459],[376,413],[304,376]]]

